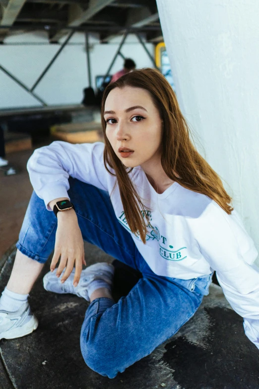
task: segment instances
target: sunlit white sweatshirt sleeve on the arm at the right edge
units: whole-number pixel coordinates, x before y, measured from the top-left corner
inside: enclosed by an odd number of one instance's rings
[[[258,252],[237,213],[228,215],[213,203],[199,218],[196,240],[226,299],[244,317],[247,337],[259,348]]]

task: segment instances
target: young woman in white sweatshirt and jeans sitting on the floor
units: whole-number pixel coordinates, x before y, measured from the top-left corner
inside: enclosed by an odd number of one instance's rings
[[[208,294],[214,270],[259,348],[257,250],[195,150],[169,83],[153,69],[119,78],[104,92],[102,121],[104,144],[53,142],[29,159],[35,192],[0,299],[0,338],[37,327],[27,297],[55,248],[44,287],[90,301],[81,352],[103,376],[116,377],[174,335]],[[83,240],[142,273],[118,303],[112,265],[82,271]]]

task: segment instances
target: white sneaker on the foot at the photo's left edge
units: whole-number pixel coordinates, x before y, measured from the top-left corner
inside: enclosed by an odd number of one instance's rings
[[[38,319],[32,313],[28,302],[18,311],[0,311],[0,339],[14,339],[28,335],[38,327]]]

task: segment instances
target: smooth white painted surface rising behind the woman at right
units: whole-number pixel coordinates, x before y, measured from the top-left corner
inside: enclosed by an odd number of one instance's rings
[[[259,1],[157,5],[183,114],[259,249]]]

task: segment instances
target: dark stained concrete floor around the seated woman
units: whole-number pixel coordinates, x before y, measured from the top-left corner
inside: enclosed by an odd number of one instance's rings
[[[0,171],[0,293],[11,272],[14,243],[32,192],[26,170],[31,154],[8,156],[20,174],[6,177]],[[85,252],[88,265],[113,260],[88,243]],[[46,292],[42,276],[48,270],[47,265],[30,293],[38,329],[0,341],[0,389],[259,388],[259,350],[245,336],[243,319],[217,285],[211,285],[209,296],[175,336],[109,380],[91,371],[80,353],[80,327],[88,304],[77,296]]]

